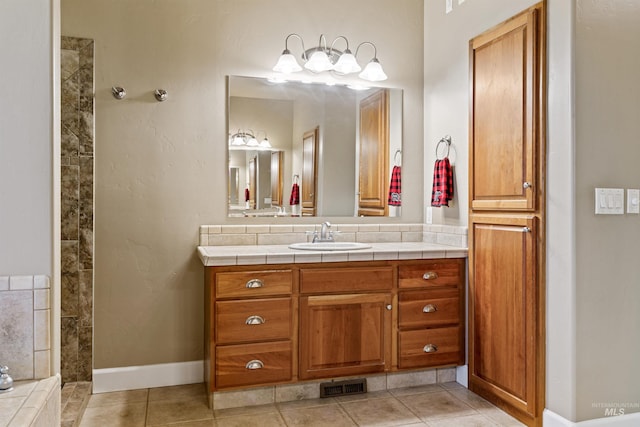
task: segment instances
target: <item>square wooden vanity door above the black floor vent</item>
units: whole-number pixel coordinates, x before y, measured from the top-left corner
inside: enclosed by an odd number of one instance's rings
[[[384,372],[391,362],[391,295],[300,297],[300,379]]]

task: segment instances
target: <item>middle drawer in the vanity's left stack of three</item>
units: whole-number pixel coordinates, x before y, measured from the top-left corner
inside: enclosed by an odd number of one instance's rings
[[[291,338],[291,298],[218,301],[217,344]]]

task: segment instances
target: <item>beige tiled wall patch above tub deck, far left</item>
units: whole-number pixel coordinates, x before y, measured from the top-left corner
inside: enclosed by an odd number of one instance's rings
[[[47,276],[0,276],[0,363],[14,380],[51,375],[51,289]]]

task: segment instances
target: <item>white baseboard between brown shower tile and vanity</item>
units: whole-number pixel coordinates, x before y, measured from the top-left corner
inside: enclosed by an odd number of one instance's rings
[[[203,381],[202,360],[94,369],[93,393],[195,384]]]

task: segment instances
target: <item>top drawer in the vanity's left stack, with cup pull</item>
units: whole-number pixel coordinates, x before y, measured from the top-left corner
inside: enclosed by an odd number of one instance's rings
[[[234,271],[216,273],[216,298],[290,295],[291,270]]]

